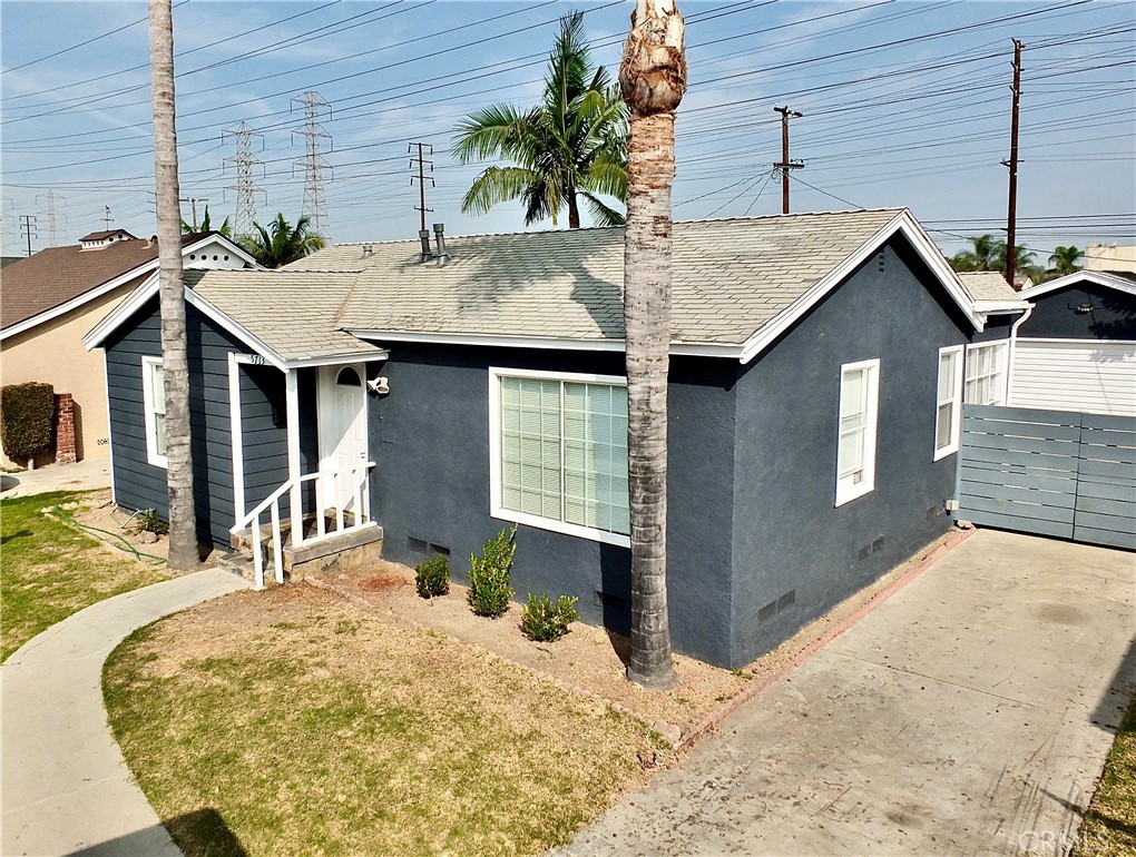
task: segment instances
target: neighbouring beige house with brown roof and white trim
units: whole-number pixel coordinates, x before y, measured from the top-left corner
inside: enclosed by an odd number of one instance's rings
[[[186,268],[256,267],[219,233],[184,236],[182,258]],[[69,393],[78,459],[110,457],[102,354],[89,352],[83,337],[157,270],[156,240],[112,229],[41,250],[0,274],[0,384],[42,381]],[[0,461],[24,463],[2,453]]]

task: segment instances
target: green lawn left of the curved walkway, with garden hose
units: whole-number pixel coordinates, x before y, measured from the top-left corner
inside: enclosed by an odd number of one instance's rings
[[[0,501],[0,659],[83,607],[166,579],[40,512],[83,498],[56,491]]]

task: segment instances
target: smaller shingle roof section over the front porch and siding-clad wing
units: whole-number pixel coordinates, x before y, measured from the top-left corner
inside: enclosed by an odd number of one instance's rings
[[[285,361],[382,348],[337,329],[351,271],[186,271],[185,283]]]

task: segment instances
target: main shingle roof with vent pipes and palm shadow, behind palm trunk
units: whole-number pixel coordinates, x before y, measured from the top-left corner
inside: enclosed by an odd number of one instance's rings
[[[902,209],[678,222],[676,343],[742,344],[903,213]],[[349,330],[623,339],[620,227],[448,241],[444,267],[419,243],[339,245],[287,270],[361,268],[340,317]]]

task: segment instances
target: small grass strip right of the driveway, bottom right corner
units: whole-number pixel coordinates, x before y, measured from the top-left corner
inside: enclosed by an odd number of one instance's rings
[[[1136,855],[1136,694],[1112,742],[1074,855]]]

